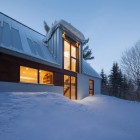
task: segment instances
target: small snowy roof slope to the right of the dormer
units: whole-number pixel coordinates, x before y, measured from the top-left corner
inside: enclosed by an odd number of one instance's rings
[[[87,63],[85,60],[82,60],[82,73],[87,74],[92,77],[101,78],[100,75]]]

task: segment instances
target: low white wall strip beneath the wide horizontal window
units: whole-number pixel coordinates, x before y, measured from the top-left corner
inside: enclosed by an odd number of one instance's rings
[[[63,95],[63,86],[0,82],[0,92],[55,92]]]

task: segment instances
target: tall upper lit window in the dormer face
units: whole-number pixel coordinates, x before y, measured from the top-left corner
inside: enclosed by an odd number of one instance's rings
[[[78,72],[79,47],[64,40],[64,69]]]

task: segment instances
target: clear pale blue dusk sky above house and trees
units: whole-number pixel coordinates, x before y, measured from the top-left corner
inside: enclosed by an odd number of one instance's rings
[[[70,22],[90,38],[91,65],[107,74],[140,40],[140,0],[0,0],[0,11],[42,34],[44,20]]]

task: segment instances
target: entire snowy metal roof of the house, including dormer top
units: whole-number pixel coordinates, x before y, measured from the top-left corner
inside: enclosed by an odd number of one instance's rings
[[[81,41],[85,41],[84,35],[64,20],[55,22],[49,34],[55,31],[58,26],[62,26],[65,30],[67,29]],[[0,52],[54,67],[60,67],[45,46],[43,42],[44,38],[45,36],[33,29],[0,13]],[[82,73],[100,78],[99,74],[84,60],[82,60]]]

